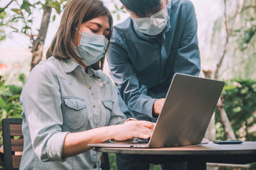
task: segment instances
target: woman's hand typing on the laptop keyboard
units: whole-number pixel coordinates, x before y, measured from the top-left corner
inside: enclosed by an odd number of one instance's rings
[[[112,129],[111,129],[112,130]],[[148,139],[151,137],[154,130],[154,124],[148,121],[128,121],[122,125],[113,127],[116,141],[124,141],[132,138]]]

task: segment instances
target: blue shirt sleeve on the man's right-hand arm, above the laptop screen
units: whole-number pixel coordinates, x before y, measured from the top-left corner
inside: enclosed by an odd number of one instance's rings
[[[195,8],[190,1],[185,5],[186,8],[183,12],[186,13],[186,23],[175,57],[174,73],[198,76],[200,73],[200,52],[198,50]]]

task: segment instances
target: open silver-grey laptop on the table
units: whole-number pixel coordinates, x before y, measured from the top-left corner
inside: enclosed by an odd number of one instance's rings
[[[162,148],[198,145],[204,138],[224,84],[224,81],[176,73],[149,141],[97,143],[88,146]]]

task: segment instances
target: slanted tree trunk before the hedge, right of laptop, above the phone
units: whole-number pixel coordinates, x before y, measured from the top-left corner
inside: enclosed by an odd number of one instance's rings
[[[219,99],[218,101],[218,104],[217,104],[217,110],[219,112],[219,115],[220,115],[220,122],[221,122],[221,125],[224,129],[224,132],[225,132],[225,139],[227,140],[236,140],[236,136],[233,132],[233,129],[230,125],[230,122],[228,120],[228,117],[227,117],[227,113],[224,109],[224,106],[225,104],[223,103],[223,101],[221,101],[221,99]]]

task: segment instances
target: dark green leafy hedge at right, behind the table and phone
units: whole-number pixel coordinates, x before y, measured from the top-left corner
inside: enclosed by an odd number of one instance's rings
[[[228,81],[222,97],[236,138],[256,141],[256,81]],[[216,114],[216,122],[216,138],[224,139],[218,114]]]

